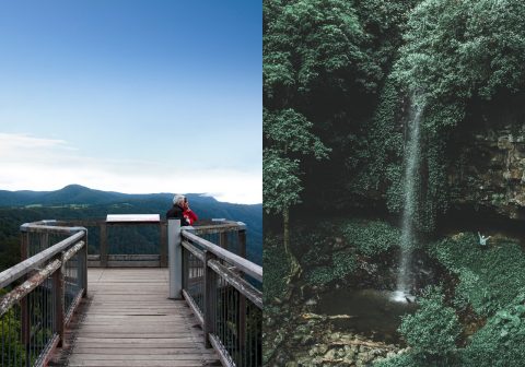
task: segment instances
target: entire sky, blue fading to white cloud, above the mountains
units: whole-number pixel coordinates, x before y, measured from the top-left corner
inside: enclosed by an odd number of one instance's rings
[[[0,189],[262,200],[260,1],[0,2]]]

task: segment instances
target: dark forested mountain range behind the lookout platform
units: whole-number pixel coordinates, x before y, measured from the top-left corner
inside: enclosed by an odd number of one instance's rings
[[[198,193],[189,193],[187,198],[199,218],[244,222],[247,226],[247,256],[252,261],[261,263],[261,204],[231,204]],[[18,262],[19,228],[23,223],[39,220],[105,220],[107,214],[161,214],[161,218],[165,218],[172,200],[172,193],[125,194],[78,185],[51,192],[0,191],[0,269]],[[144,229],[143,241],[156,244],[158,230],[150,229]],[[91,245],[96,248],[94,235]]]

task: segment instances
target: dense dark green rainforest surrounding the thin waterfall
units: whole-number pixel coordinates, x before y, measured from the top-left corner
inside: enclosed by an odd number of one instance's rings
[[[524,23],[518,0],[264,1],[268,365],[523,365]]]

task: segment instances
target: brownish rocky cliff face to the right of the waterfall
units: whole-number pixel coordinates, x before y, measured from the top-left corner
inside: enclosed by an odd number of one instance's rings
[[[525,221],[525,118],[499,117],[455,139],[450,167],[451,203]],[[493,122],[493,120],[491,121]]]

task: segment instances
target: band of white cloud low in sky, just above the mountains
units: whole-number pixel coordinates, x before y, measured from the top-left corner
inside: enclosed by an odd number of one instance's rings
[[[94,158],[62,140],[0,133],[0,189],[57,190],[69,183],[127,193],[203,192],[221,201],[262,202],[262,173],[189,170],[159,162]]]

